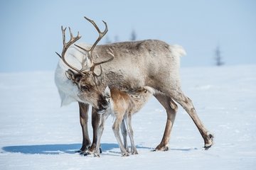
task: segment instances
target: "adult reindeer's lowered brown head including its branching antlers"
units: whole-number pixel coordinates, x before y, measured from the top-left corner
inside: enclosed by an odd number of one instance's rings
[[[81,36],[78,35],[74,38],[73,34],[71,33],[70,30],[70,40],[68,42],[65,42],[65,30],[66,28],[63,29],[61,27],[62,33],[63,33],[63,51],[61,55],[59,55],[57,52],[57,55],[63,60],[63,62],[70,67],[65,72],[66,77],[73,82],[73,84],[76,84],[78,86],[79,92],[78,92],[78,98],[80,98],[81,101],[84,101],[85,103],[90,103],[92,106],[95,108],[100,108],[105,106],[105,99],[102,96],[102,91],[100,91],[100,86],[102,84],[102,79],[104,78],[104,75],[102,75],[102,67],[101,64],[105,62],[110,62],[114,59],[114,54],[112,52],[112,49],[107,50],[107,54],[110,54],[110,59],[105,60],[102,62],[94,62],[93,61],[93,50],[95,49],[95,46],[97,45],[98,42],[103,38],[103,36],[107,33],[107,23],[103,21],[105,24],[105,30],[103,32],[100,31],[100,29],[97,27],[94,21],[90,20],[89,18],[85,19],[92,23],[93,26],[95,26],[97,32],[99,33],[99,37],[95,41],[95,43],[90,47],[89,50],[80,47],[79,45],[75,45],[74,43],[81,38]],[[85,57],[82,59],[82,68],[77,69],[73,67],[71,64],[68,64],[68,62],[65,60],[65,52],[68,50],[68,47],[70,45],[75,45],[78,47],[80,50],[83,50],[83,54]],[[100,67],[100,74],[95,73],[95,67],[99,66]],[[100,103],[100,104],[99,104]]]

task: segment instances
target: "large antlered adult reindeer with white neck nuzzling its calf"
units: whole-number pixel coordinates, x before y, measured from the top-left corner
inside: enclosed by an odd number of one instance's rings
[[[204,140],[204,149],[213,144],[213,135],[204,127],[196,114],[190,98],[181,91],[179,76],[180,57],[186,55],[182,47],[169,45],[160,40],[142,40],[133,42],[117,42],[109,45],[97,45],[107,33],[100,29],[90,19],[99,33],[99,38],[93,45],[74,43],[80,36],[73,38],[70,32],[70,41],[65,43],[63,30],[63,52],[55,72],[55,82],[58,86],[62,103],[78,101],[80,105],[80,123],[82,125],[83,142],[81,151],[90,144],[87,135],[87,111],[89,104],[92,109],[92,128],[94,129],[93,142],[90,152],[95,149],[96,132],[99,118],[95,108],[104,107],[102,91],[106,86],[110,89],[119,89],[124,92],[137,91],[148,87],[154,96],[166,109],[167,121],[164,136],[155,150],[169,149],[171,128],[174,125],[179,103],[191,116]],[[90,49],[90,50],[88,50]],[[110,62],[111,61],[111,62]],[[107,63],[106,63],[107,62]],[[100,73],[99,73],[100,72]],[[98,73],[98,74],[97,74]],[[97,86],[91,88],[92,86]]]

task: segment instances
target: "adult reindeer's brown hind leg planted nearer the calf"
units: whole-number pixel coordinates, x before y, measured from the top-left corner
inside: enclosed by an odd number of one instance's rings
[[[174,120],[176,117],[176,112],[178,110],[178,106],[176,103],[174,103],[173,100],[171,100],[170,97],[166,96],[165,94],[154,94],[156,99],[161,103],[162,106],[166,109],[167,113],[167,121],[166,121],[166,128],[164,130],[164,136],[160,142],[160,144],[154,149],[161,150],[161,151],[167,151],[169,149],[169,140],[171,136],[171,129],[174,125]]]

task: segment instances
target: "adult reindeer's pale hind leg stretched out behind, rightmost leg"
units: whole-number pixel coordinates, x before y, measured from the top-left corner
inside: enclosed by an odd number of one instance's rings
[[[213,145],[213,135],[208,132],[201,120],[198,118],[191,99],[186,97],[181,90],[172,91],[171,94],[174,100],[186,110],[188,115],[190,115],[193,122],[196,124],[196,127],[201,133],[205,143],[204,149],[209,149]]]

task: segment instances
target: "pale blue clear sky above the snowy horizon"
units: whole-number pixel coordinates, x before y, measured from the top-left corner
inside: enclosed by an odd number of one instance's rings
[[[83,16],[109,31],[107,40],[158,39],[185,48],[181,67],[215,65],[220,47],[225,65],[256,64],[256,1],[0,1],[0,72],[53,71],[62,50],[61,26],[93,43],[97,32]]]

